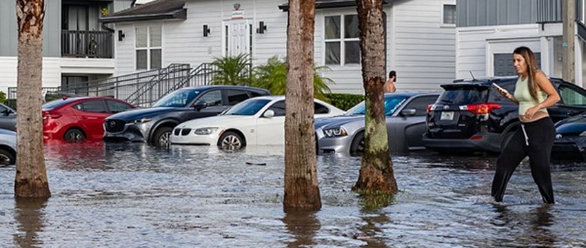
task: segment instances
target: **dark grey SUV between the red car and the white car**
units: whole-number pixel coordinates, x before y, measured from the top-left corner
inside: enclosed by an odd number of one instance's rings
[[[236,103],[268,94],[268,90],[237,85],[184,87],[163,96],[152,107],[108,116],[103,124],[103,141],[146,142],[166,146],[177,124],[214,116]]]

